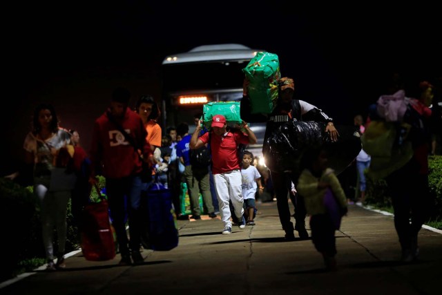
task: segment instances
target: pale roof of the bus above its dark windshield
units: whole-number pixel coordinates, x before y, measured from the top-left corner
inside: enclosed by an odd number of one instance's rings
[[[242,44],[213,44],[195,47],[186,53],[167,56],[162,64],[184,64],[202,61],[249,61],[257,49]]]

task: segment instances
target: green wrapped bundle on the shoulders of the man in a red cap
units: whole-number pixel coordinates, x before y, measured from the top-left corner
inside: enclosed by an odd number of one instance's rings
[[[209,102],[202,106],[202,121],[206,129],[211,130],[212,117],[223,115],[227,126],[235,127],[241,124],[240,102]]]

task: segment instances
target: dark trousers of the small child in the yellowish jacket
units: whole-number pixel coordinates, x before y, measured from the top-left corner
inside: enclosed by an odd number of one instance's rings
[[[318,252],[326,256],[336,255],[335,229],[328,214],[318,214],[310,218],[311,241]]]

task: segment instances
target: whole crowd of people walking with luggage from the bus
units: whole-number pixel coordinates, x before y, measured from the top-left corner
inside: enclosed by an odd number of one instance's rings
[[[392,85],[389,92],[383,93],[381,98],[386,104],[385,108],[390,111],[388,114],[396,111],[399,118],[387,117],[387,112],[382,112],[379,107],[380,102],[367,108],[365,124],[362,115],[356,114],[354,117],[354,125],[363,143],[355,159],[357,202],[365,203],[366,177],[370,171],[390,169],[385,170],[383,175],[391,191],[401,260],[407,263],[419,256],[417,234],[432,205],[428,193],[427,155],[440,154],[441,151],[442,124],[439,124],[439,129],[434,128],[434,124],[441,122],[441,107],[437,104],[441,101],[440,88],[429,82],[422,82],[420,87],[421,95],[416,99],[405,96],[402,84]],[[217,218],[217,214],[220,214],[220,233],[229,235],[233,224],[240,229],[246,225],[256,225],[257,199],[264,192],[267,182],[271,182],[285,239],[294,240],[294,231],[301,239],[309,238],[305,224],[308,214],[311,216],[309,226],[314,247],[323,255],[326,267],[335,269],[334,233],[338,228],[327,212],[323,198],[328,189],[332,191],[340,209],[338,218],[342,218],[347,213],[349,196],[345,196],[345,187],[341,186],[334,171],[327,166],[327,151],[323,146],[312,146],[299,167],[287,170],[271,160],[272,148],[267,141],[274,131],[287,122],[314,121],[323,122],[324,132],[332,142],[336,142],[340,134],[334,120],[313,104],[295,99],[295,83],[290,77],[282,77],[278,81],[278,100],[268,115],[250,113],[248,88],[249,82],[245,79],[241,124],[228,126],[224,115],[214,115],[210,130],[202,133],[202,121],[197,116],[192,134],[189,134],[188,123],[180,122],[176,128],[167,126],[164,135],[158,124],[160,108],[153,97],[142,95],[135,108],[131,109],[128,89],[115,88],[108,108],[95,120],[92,145],[88,152],[81,148],[75,126],[70,130],[62,128],[55,108],[50,104],[39,104],[35,108],[32,130],[26,135],[23,148],[26,162],[33,165],[33,185],[41,207],[48,270],[66,267],[64,245],[68,200],[73,200],[73,214],[78,224],[79,212],[87,203],[88,193],[95,185],[97,175],[106,178],[106,194],[121,254],[120,265],[140,264],[143,261],[140,246],[148,247],[143,192],[151,183],[160,181],[164,187],[171,189],[177,217],[183,216],[180,211],[180,184],[186,183],[191,204],[190,218],[201,220],[203,213]],[[395,101],[403,102],[403,105],[393,106],[392,97],[397,98]],[[434,97],[436,104],[432,104]],[[264,172],[253,166],[252,153],[238,153],[239,145],[256,144],[256,135],[248,122],[257,121],[267,124],[262,149],[267,158],[267,171]],[[373,130],[381,124],[377,122],[382,122],[383,126],[386,126],[385,122],[392,122],[388,128],[398,134],[392,139],[392,149],[401,149],[401,158],[394,158],[396,150],[393,150],[391,160],[396,162],[388,167],[381,167],[380,157],[371,142],[376,140]],[[209,166],[197,166],[191,162],[192,151],[202,148],[210,150]],[[16,176],[17,173],[8,175],[11,179]],[[216,203],[212,198],[211,178]],[[403,183],[414,183],[414,186],[405,187]],[[200,198],[204,212],[200,207]],[[294,214],[290,211],[289,200],[294,205]],[[294,217],[295,224],[291,222],[291,217]],[[57,230],[57,247],[54,246],[54,228]]]

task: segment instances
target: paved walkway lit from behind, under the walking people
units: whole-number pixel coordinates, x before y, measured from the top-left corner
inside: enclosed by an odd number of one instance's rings
[[[79,252],[65,271],[37,271],[0,294],[442,294],[441,231],[422,229],[419,261],[404,265],[392,216],[350,205],[336,232],[338,270],[325,272],[311,240],[285,242],[275,202],[258,209],[255,227],[228,236],[219,219],[179,220],[180,245],[144,250],[143,265]]]

